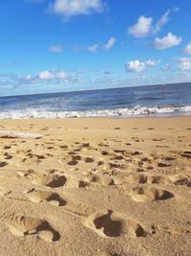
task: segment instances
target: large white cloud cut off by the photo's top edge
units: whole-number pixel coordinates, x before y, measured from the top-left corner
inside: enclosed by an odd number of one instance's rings
[[[91,14],[103,10],[101,0],[54,0],[50,5],[51,12],[69,18],[80,14]]]

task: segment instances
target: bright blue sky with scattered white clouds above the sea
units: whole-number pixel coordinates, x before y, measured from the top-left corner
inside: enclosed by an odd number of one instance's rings
[[[190,0],[1,0],[0,96],[191,81]]]

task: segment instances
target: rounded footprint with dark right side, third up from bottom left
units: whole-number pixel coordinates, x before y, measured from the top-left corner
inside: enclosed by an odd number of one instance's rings
[[[37,174],[34,175],[32,183],[36,185],[44,185],[51,188],[58,188],[65,185],[67,178],[64,175],[57,174]]]

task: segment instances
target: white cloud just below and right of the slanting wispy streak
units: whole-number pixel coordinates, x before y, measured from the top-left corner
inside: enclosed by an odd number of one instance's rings
[[[154,47],[159,50],[164,50],[179,45],[181,41],[181,37],[173,35],[172,33],[168,33],[166,36],[162,38],[155,38]]]

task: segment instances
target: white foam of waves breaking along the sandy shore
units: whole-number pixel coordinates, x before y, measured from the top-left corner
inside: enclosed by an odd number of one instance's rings
[[[86,110],[86,111],[50,111],[48,109],[19,109],[2,111],[0,119],[31,119],[31,118],[73,118],[73,117],[138,117],[158,115],[190,115],[191,105],[185,106],[136,106],[129,108]]]

